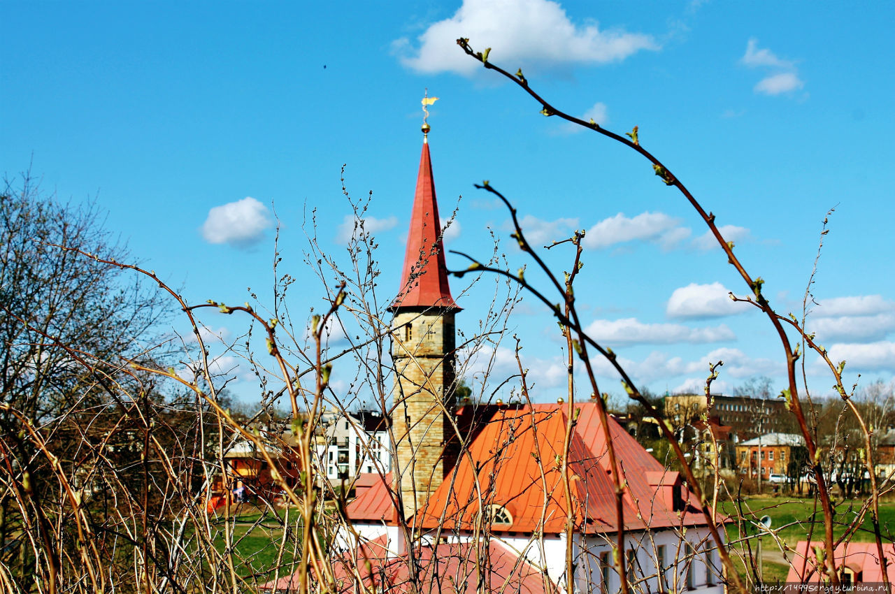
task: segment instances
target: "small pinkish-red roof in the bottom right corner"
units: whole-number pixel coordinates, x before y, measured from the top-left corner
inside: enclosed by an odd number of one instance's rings
[[[789,562],[789,573],[786,581],[818,582],[822,581],[817,571],[814,547],[824,548],[823,542],[812,542],[808,546],[807,540],[799,540],[796,545],[796,556]],[[886,556],[886,573],[889,583],[895,583],[895,545],[891,542],[882,543],[882,553]],[[882,566],[880,565],[879,552],[875,542],[848,542],[836,547],[833,554],[837,567],[847,566],[856,574],[861,573],[860,581],[882,583]],[[823,570],[822,570],[823,571]]]

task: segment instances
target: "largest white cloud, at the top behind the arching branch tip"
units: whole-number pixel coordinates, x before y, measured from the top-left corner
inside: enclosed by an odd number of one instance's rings
[[[422,33],[418,47],[402,38],[393,49],[402,64],[417,72],[476,72],[481,64],[456,47],[457,38],[469,38],[477,51],[493,48],[490,59],[513,68],[519,63],[606,64],[659,49],[650,35],[600,30],[596,21],[575,25],[562,6],[549,0],[464,0],[454,16]]]

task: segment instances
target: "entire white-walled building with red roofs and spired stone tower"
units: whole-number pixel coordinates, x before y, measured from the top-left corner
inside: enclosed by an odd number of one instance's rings
[[[345,509],[353,530],[335,543],[343,551],[337,590],[616,592],[620,520],[632,592],[721,594],[719,556],[699,502],[678,472],[616,421],[604,429],[596,403],[455,406],[459,308],[440,245],[428,125],[423,132],[402,288],[389,308],[396,460],[392,472],[358,479]],[[569,415],[567,489],[561,453]],[[607,430],[618,468],[609,464]],[[620,518],[613,472],[627,484]],[[286,576],[265,588],[296,586]]]

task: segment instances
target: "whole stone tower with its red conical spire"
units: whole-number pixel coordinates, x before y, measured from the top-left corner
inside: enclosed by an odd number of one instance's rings
[[[388,308],[395,316],[395,472],[407,519],[426,505],[456,462],[456,439],[448,420],[453,403],[448,398],[455,380],[454,314],[460,308],[447,284],[429,130],[429,124],[423,123],[402,284]]]

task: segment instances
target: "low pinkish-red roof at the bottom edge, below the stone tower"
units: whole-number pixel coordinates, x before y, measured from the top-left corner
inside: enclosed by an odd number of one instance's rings
[[[420,573],[408,570],[406,556],[388,556],[385,537],[363,544],[333,564],[337,592],[355,592],[358,578],[365,589],[400,594],[410,591],[476,594],[485,591],[547,594],[557,592],[554,583],[496,540],[487,546],[475,542],[422,546],[415,550]],[[480,578],[482,588],[480,588]],[[298,587],[290,575],[261,586],[262,591],[288,592]]]

